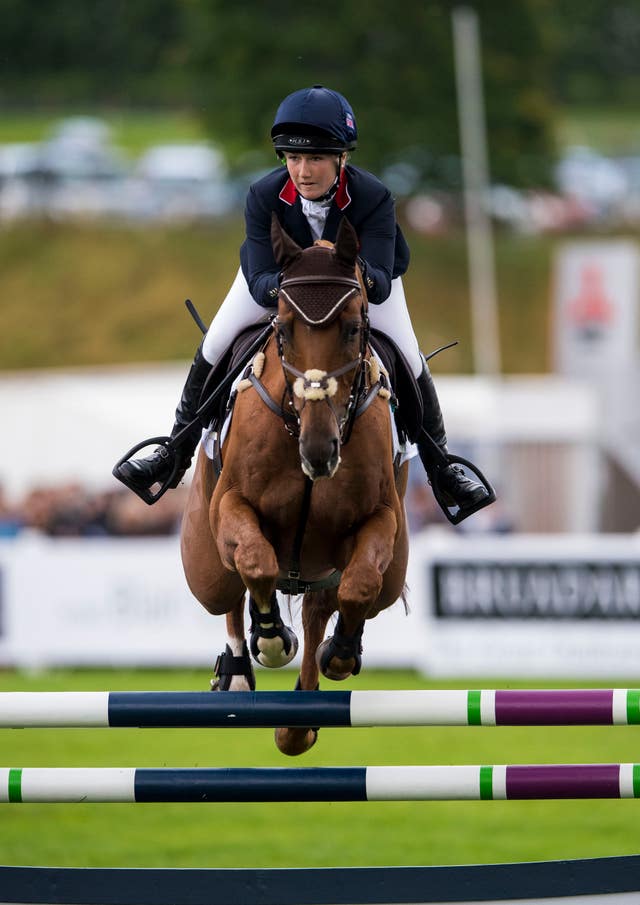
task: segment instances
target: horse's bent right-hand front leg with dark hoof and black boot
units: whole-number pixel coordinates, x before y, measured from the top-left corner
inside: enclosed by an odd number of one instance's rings
[[[360,672],[365,619],[372,619],[382,608],[379,598],[384,573],[393,558],[397,527],[395,513],[385,507],[374,513],[356,535],[353,554],[338,587],[334,634],[316,651],[320,672],[328,679],[341,681]]]

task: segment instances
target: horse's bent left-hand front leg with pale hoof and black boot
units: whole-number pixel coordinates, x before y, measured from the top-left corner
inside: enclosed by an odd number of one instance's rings
[[[251,655],[262,666],[285,666],[298,651],[298,639],[280,618],[275,591],[278,560],[255,510],[239,493],[228,491],[213,527],[223,563],[239,572],[249,590]]]

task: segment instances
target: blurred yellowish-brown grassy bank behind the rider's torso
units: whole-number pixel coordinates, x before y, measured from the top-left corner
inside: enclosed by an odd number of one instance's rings
[[[453,339],[435,373],[473,368],[466,246],[460,235],[407,231],[405,288],[425,351]],[[22,223],[0,243],[0,369],[68,367],[191,358],[199,332],[184,309],[193,299],[209,321],[239,264],[239,216],[202,227]],[[548,367],[554,240],[496,239],[504,369]]]

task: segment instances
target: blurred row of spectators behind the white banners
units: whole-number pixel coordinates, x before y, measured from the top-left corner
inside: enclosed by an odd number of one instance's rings
[[[81,483],[34,486],[12,502],[0,485],[0,538],[35,531],[48,537],[159,537],[177,534],[187,487],[166,493],[153,506],[124,487],[94,491]],[[451,529],[435,501],[418,460],[412,460],[405,498],[411,533]],[[457,530],[507,533],[511,520],[499,503],[477,513]]]

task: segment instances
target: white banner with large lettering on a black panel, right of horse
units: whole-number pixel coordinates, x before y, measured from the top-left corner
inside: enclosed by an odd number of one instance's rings
[[[430,675],[640,675],[638,536],[424,536],[409,582]]]

